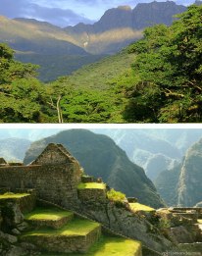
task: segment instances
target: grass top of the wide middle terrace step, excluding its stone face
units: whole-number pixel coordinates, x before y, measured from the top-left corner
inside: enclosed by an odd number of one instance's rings
[[[100,224],[90,222],[88,220],[74,219],[71,223],[68,223],[63,228],[58,230],[41,228],[39,230],[32,230],[27,232],[25,236],[40,236],[40,235],[63,235],[63,236],[74,236],[74,235],[86,235],[91,230],[98,228]]]

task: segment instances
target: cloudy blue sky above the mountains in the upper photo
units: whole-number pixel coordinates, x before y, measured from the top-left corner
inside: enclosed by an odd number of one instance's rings
[[[0,15],[7,18],[28,18],[45,21],[56,26],[74,26],[78,23],[93,24],[110,8],[152,0],[0,0]],[[163,2],[165,0],[158,0]],[[194,0],[176,0],[189,5]]]

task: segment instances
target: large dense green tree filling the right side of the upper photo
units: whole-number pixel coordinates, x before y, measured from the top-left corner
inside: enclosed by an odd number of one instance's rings
[[[202,6],[192,5],[170,27],[145,29],[130,45],[137,54],[127,89],[127,122],[201,122]]]

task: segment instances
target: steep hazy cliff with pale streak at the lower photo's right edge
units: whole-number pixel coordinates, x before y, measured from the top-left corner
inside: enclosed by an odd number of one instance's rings
[[[202,201],[202,139],[194,143],[177,168],[155,180],[157,190],[169,205],[192,207]]]

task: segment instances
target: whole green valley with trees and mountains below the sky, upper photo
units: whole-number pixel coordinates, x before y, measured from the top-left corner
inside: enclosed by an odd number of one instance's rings
[[[0,122],[200,123],[200,14],[200,1],[168,1],[86,26],[1,17]]]

